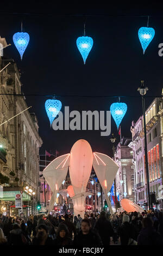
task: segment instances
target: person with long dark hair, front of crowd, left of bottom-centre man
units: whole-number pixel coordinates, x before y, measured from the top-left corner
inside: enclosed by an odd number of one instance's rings
[[[68,228],[65,224],[60,224],[57,230],[57,237],[54,239],[54,245],[67,246],[72,245],[72,239],[70,237]]]

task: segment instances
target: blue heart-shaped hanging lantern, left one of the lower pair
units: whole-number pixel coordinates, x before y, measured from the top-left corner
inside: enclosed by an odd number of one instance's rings
[[[57,100],[57,99],[47,99],[46,100],[45,109],[46,109],[49,121],[51,123],[51,126],[54,121],[54,118],[58,115],[61,107],[62,107],[62,104],[61,104],[60,100]]]

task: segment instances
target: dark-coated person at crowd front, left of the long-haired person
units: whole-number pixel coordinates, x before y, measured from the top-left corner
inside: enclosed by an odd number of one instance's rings
[[[36,236],[32,240],[32,245],[54,245],[54,240],[48,236],[48,228],[45,224],[40,224],[36,228]]]

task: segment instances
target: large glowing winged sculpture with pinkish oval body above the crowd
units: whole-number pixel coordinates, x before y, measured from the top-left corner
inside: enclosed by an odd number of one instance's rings
[[[43,170],[43,176],[53,191],[49,212],[54,207],[57,193],[65,180],[69,166],[72,187],[68,194],[73,201],[74,216],[80,214],[82,218],[84,217],[85,198],[91,194],[86,192],[86,186],[91,175],[92,165],[103,188],[110,213],[113,213],[108,192],[119,166],[106,154],[92,152],[89,142],[83,139],[74,143],[70,153],[55,158]]]

